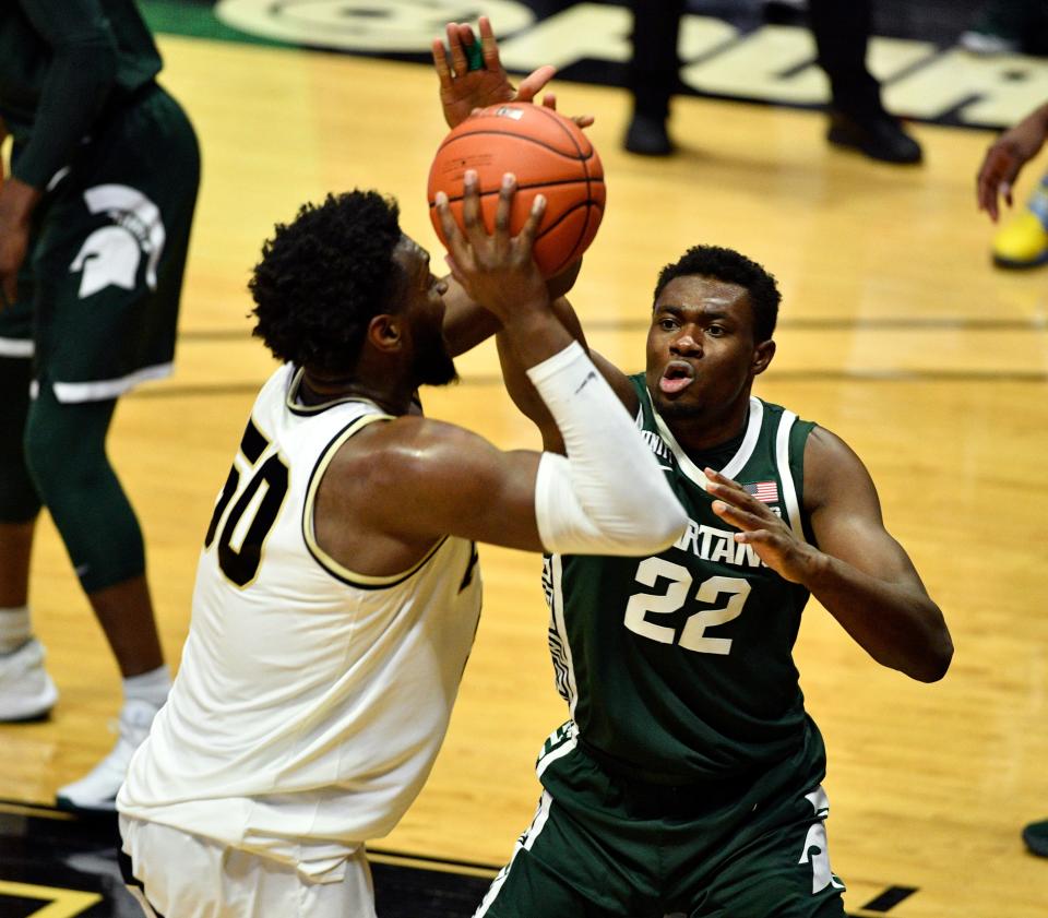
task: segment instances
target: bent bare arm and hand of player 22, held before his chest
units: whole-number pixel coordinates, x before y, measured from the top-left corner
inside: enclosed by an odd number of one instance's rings
[[[843,440],[815,428],[805,448],[805,509],[818,547],[734,481],[705,474],[714,512],[741,530],[736,540],[808,588],[873,659],[922,682],[945,675],[953,643],[942,612],[884,528],[873,481]]]

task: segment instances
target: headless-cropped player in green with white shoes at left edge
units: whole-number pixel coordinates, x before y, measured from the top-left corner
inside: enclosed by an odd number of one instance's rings
[[[114,808],[170,677],[142,532],[106,456],[117,398],[171,370],[200,157],[156,83],[133,0],[19,0],[0,12],[0,719],[57,691],[28,571],[48,509],[123,677],[119,739],[60,806]]]

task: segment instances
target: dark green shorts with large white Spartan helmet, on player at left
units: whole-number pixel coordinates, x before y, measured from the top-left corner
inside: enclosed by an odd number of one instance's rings
[[[192,126],[155,83],[103,116],[34,213],[0,357],[32,357],[59,402],[168,374],[199,183]]]

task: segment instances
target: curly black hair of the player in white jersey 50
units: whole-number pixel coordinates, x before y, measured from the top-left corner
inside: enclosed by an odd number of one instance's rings
[[[321,372],[353,369],[368,323],[390,310],[401,282],[398,216],[394,200],[355,190],[277,224],[248,284],[252,334],[274,357]]]

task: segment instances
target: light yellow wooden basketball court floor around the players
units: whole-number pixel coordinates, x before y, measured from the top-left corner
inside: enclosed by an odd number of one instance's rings
[[[406,231],[436,262],[425,182],[444,128],[425,67],[199,39],[162,47],[164,82],[201,136],[204,180],[176,375],[121,403],[110,450],[177,665],[211,508],[273,367],[246,318],[261,241],[302,201],[373,187],[400,199]],[[973,194],[989,135],[918,127],[927,163],[893,168],[830,150],[818,115],[681,99],[681,153],[650,162],[619,150],[620,91],[559,93],[563,110],[596,116],[608,180],[573,294],[591,344],[640,369],[655,274],[690,245],[763,262],[784,307],[758,393],[866,460],[889,528],[952,629],[953,668],[924,685],[879,668],[808,609],[797,658],[826,737],[831,856],[849,907],[897,885],[917,890],[892,910],[902,918],[1041,918],[1048,861],[1025,853],[1020,830],[1048,818],[1048,271],[989,264]],[[430,414],[503,448],[536,444],[493,348],[460,370],[457,386],[426,394]],[[485,613],[448,740],[383,848],[501,862],[534,809],[535,753],[565,716],[539,559],[492,548],[481,559]],[[33,604],[62,698],[46,723],[0,728],[0,798],[47,802],[108,751],[119,682],[46,522]]]

